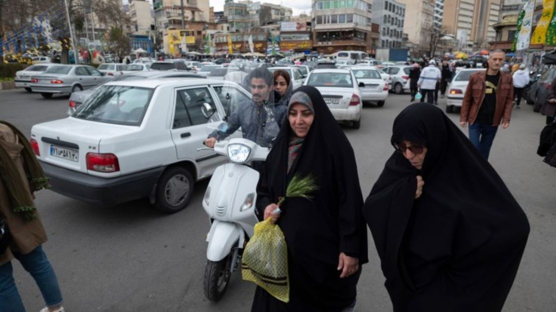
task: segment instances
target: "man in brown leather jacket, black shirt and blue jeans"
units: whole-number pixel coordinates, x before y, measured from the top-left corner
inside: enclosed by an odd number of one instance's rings
[[[502,50],[490,52],[486,72],[471,75],[459,114],[461,127],[469,123],[469,140],[486,159],[498,125],[508,128],[512,115],[512,76],[500,71],[504,58]]]

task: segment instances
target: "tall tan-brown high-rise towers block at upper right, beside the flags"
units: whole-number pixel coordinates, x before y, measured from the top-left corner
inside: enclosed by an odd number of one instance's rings
[[[443,29],[454,34],[459,49],[488,48],[494,41],[494,24],[500,16],[500,0],[444,0]]]

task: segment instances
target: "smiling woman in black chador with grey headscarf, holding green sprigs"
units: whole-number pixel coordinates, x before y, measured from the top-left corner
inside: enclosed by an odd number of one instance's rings
[[[363,195],[353,149],[314,87],[296,90],[257,186],[257,209],[280,226],[287,244],[290,301],[257,287],[252,311],[350,311],[368,262]],[[311,175],[311,199],[287,198],[295,176]],[[259,214],[261,215],[261,214]]]

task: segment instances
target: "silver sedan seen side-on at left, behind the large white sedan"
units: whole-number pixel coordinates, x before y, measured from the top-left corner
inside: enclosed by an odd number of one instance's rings
[[[56,64],[44,73],[31,77],[31,89],[51,98],[54,93],[73,93],[95,87],[110,79],[96,68],[87,65]]]

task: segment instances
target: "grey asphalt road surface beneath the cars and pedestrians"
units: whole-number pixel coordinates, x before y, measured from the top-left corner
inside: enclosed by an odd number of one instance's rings
[[[393,120],[409,95],[390,95],[383,108],[364,109],[359,130],[344,128],[354,147],[366,196],[393,152]],[[440,107],[444,108],[444,100]],[[22,90],[0,92],[0,119],[29,135],[33,124],[64,118],[68,97],[42,99]],[[522,104],[524,105],[524,104]],[[500,129],[490,154],[529,217],[527,249],[504,311],[556,308],[556,170],[535,154],[544,117],[524,105]],[[457,122],[457,114],[449,114]],[[209,220],[201,199],[207,182],[195,185],[182,212],[165,215],[146,200],[101,208],[49,190],[36,204],[49,241],[44,244],[58,275],[68,312],[76,311],[249,311],[254,285],[232,276],[226,295],[211,303],[203,294],[205,235]],[[380,262],[369,234],[370,263],[359,281],[358,311],[391,311]],[[32,278],[14,261],[14,278],[29,311],[43,300]]]

